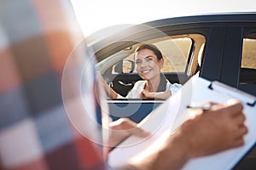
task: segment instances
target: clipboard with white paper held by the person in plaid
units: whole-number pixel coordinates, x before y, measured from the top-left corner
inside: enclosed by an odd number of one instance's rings
[[[140,139],[131,136],[120,143],[108,155],[108,166],[119,167],[128,161],[142,161],[162,144],[168,135],[175,133],[177,128],[190,116],[187,106],[191,103],[213,101],[224,103],[228,99],[238,99],[244,106],[248,133],[245,144],[241,147],[224,150],[211,156],[195,158],[183,166],[183,170],[192,169],[231,169],[250,150],[256,142],[256,98],[253,95],[231,88],[221,82],[210,82],[201,77],[191,77],[176,94],[157,107],[139,127],[151,132],[148,138]]]

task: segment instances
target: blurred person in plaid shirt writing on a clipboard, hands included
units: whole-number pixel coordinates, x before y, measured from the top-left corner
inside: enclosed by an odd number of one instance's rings
[[[97,127],[102,108],[92,93],[98,92],[93,58],[71,3],[1,1],[0,61],[0,169],[108,169]],[[239,102],[208,112],[185,122],[148,159],[123,168],[178,169],[192,157],[243,144],[247,127]],[[108,146],[143,133],[129,131],[136,126],[127,119],[111,122],[110,129],[127,133],[110,138]]]

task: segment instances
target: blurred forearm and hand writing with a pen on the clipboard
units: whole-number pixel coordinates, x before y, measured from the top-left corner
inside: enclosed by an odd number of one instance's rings
[[[181,169],[189,159],[207,156],[244,144],[245,116],[238,101],[212,105],[209,111],[195,110],[163,145],[143,161],[131,161],[124,169]]]

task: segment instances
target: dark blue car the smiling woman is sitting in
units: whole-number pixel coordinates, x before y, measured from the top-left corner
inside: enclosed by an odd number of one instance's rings
[[[141,79],[133,61],[133,52],[140,43],[153,43],[160,48],[165,58],[162,72],[172,83],[184,84],[196,75],[256,95],[255,19],[256,13],[252,12],[154,20],[127,26],[88,44],[102,77],[123,96]],[[110,113],[123,113],[114,115],[113,119],[127,116],[136,122],[162,102],[159,99],[108,99]],[[143,116],[138,117],[140,115]],[[256,167],[255,146],[236,169],[248,167]]]

